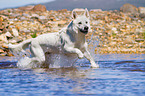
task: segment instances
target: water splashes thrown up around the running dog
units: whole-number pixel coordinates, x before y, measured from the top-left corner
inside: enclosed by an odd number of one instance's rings
[[[98,36],[94,36],[93,31],[90,40],[88,41],[89,51],[91,55],[95,57],[95,48],[99,44]],[[78,60],[76,54],[63,54],[62,46],[59,48],[59,53],[57,54],[45,54],[45,67],[49,68],[61,68],[61,67],[72,67],[74,66],[75,62]],[[44,50],[47,52],[48,48],[44,48]],[[45,52],[44,51],[44,52]],[[25,52],[13,52],[14,56],[17,57],[18,63],[17,66],[19,68],[38,68],[42,67],[38,62],[31,62],[31,52],[30,52],[30,46],[25,50]],[[84,60],[84,59],[83,59]],[[81,60],[80,60],[81,61]],[[78,62],[77,62],[78,63]]]

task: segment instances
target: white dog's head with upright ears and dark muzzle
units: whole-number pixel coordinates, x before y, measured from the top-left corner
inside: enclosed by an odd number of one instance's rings
[[[87,34],[90,29],[90,16],[87,9],[84,10],[83,15],[77,15],[75,10],[72,11],[73,25],[77,32]]]

